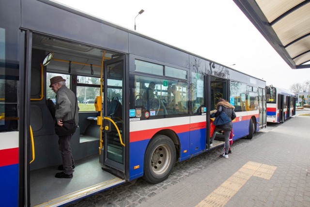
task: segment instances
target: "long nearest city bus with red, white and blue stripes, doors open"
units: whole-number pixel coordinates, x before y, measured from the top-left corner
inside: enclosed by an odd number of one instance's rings
[[[264,80],[53,1],[0,7],[0,206],[62,206],[140,177],[162,182],[175,162],[223,146],[218,133],[210,147],[219,98],[235,107],[234,140],[266,127]],[[71,179],[55,178],[54,76],[78,98]]]

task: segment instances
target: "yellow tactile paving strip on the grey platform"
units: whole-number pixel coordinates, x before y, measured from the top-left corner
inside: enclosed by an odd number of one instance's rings
[[[276,170],[277,167],[275,166],[249,161],[196,207],[223,207],[248,182],[251,176],[269,180]]]

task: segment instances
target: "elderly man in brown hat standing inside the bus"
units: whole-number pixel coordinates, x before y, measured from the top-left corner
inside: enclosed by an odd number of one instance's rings
[[[56,124],[62,127],[62,121],[68,121],[75,117],[76,127],[78,126],[78,104],[76,95],[66,87],[66,80],[61,76],[50,79],[49,87],[56,94]],[[76,107],[76,108],[75,108]],[[76,114],[74,114],[76,112]],[[72,134],[59,136],[59,149],[62,154],[62,165],[58,166],[61,173],[56,173],[57,178],[72,178],[73,168],[75,168],[74,159],[71,154],[70,141]]]

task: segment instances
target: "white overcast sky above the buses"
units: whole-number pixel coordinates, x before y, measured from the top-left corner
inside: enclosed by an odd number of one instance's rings
[[[284,89],[310,82],[291,69],[233,0],[62,0],[97,16]],[[91,32],[91,31],[90,31]],[[233,65],[235,64],[235,65]],[[308,87],[307,87],[308,88]]]

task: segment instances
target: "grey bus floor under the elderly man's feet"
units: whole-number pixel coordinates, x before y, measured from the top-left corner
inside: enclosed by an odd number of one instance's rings
[[[31,206],[116,178],[101,169],[99,155],[77,160],[73,178],[56,178],[58,166],[30,172]]]

